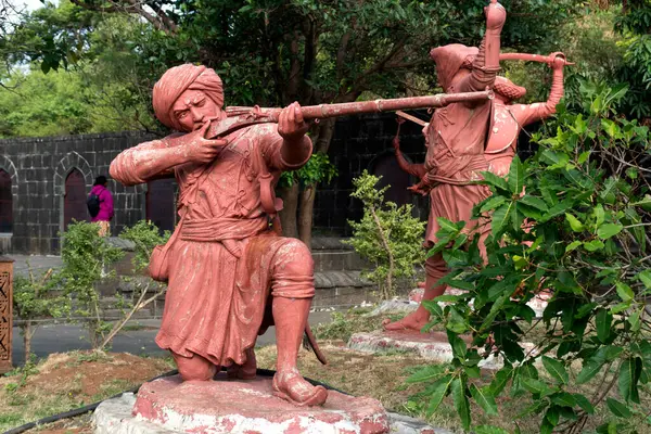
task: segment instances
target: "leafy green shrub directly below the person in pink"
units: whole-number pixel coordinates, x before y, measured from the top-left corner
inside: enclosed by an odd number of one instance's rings
[[[60,276],[63,289],[73,298],[73,316],[85,318],[93,348],[111,330],[111,323],[102,319],[95,284],[112,277],[114,270],[108,271],[108,268],[124,256],[122,250],[110,245],[105,238],[99,235],[98,229],[95,224],[77,221],[68,225],[61,234],[63,267]]]

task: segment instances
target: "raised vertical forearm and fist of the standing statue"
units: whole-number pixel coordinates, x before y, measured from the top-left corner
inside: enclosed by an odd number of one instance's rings
[[[486,34],[472,63],[471,74],[463,78],[457,88],[459,92],[475,92],[493,87],[499,72],[500,35],[507,12],[495,0],[490,1],[485,12]]]

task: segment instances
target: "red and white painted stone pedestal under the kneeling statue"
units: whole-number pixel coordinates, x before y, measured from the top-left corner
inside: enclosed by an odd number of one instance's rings
[[[299,434],[390,432],[390,419],[376,399],[329,391],[322,407],[296,407],[272,395],[271,378],[181,382],[170,376],[144,384],[133,418],[110,418],[98,408],[95,433]],[[149,431],[143,431],[149,426]]]

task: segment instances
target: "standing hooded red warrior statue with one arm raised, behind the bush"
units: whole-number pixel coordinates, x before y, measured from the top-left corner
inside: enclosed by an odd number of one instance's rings
[[[480,48],[452,43],[430,52],[436,63],[436,76],[446,93],[472,92],[493,88],[499,71],[500,34],[507,13],[497,0],[490,0],[485,9],[486,34]],[[437,219],[468,221],[467,230],[476,229],[481,240],[490,230],[486,221],[471,220],[475,204],[488,197],[486,186],[474,184],[481,173],[488,169],[484,149],[493,101],[454,103],[437,108],[423,133],[427,153],[424,173],[414,190],[430,194],[430,217],[424,246],[432,247],[439,229]],[[420,175],[420,174],[419,174]],[[484,243],[480,250],[485,257]],[[445,292],[438,280],[449,272],[441,253],[425,261],[425,292],[423,301],[430,301]],[[418,330],[429,321],[430,312],[422,306],[404,319],[385,323],[385,330]]]

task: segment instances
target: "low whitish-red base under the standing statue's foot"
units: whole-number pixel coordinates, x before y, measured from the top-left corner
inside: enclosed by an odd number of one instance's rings
[[[525,352],[534,348],[534,344],[531,343],[520,345]],[[348,348],[372,354],[390,352],[414,353],[424,359],[439,363],[447,363],[452,360],[452,347],[448,343],[447,335],[444,332],[420,333],[411,330],[401,330],[355,333],[348,341]],[[480,368],[483,369],[498,370],[502,366],[502,358],[493,355],[480,361]]]

